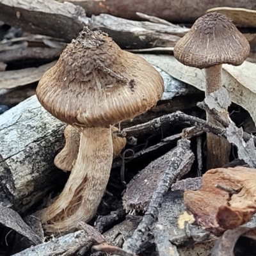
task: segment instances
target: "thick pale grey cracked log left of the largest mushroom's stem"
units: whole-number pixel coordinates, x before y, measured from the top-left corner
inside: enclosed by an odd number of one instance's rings
[[[25,211],[61,184],[53,159],[63,147],[64,127],[36,96],[0,116],[0,186],[16,211]]]

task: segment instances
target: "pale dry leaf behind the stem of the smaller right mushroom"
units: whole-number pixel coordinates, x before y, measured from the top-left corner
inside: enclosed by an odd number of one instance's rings
[[[205,90],[204,70],[182,65],[170,55],[139,54],[149,63],[163,69],[170,76],[199,90]],[[248,61],[238,67],[223,64],[223,85],[232,102],[246,109],[256,123],[256,72],[255,64]]]

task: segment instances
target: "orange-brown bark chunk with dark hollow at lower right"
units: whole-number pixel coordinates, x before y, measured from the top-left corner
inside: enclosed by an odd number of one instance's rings
[[[248,222],[256,212],[256,169],[217,168],[203,175],[202,189],[185,191],[184,204],[199,225],[216,235]],[[230,195],[216,184],[237,191]]]

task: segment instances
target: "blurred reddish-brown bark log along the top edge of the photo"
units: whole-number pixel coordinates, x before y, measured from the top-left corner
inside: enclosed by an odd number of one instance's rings
[[[254,0],[69,0],[69,2],[82,6],[89,16],[109,13],[125,19],[138,19],[136,12],[141,12],[177,23],[194,22],[204,15],[207,9],[216,6],[256,9]]]

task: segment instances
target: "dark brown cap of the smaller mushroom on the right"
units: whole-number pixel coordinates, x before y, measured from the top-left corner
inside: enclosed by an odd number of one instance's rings
[[[221,13],[207,13],[195,21],[174,47],[181,63],[196,68],[241,65],[250,54],[250,44],[232,20]]]

